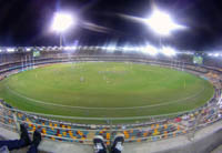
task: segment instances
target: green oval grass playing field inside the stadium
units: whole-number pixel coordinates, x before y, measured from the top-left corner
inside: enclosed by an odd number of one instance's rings
[[[193,74],[145,64],[62,63],[0,82],[0,98],[21,110],[85,118],[158,115],[192,110],[213,95]]]

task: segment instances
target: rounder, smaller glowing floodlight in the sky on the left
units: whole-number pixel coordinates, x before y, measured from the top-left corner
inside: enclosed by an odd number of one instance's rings
[[[53,18],[52,30],[57,32],[64,32],[73,24],[74,20],[71,14],[57,12]]]

